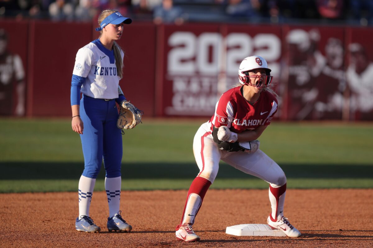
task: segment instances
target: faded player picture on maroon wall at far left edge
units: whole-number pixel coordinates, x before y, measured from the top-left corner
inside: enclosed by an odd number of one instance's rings
[[[21,56],[14,52],[17,42],[13,42],[13,37],[0,28],[0,116],[25,115],[25,69]]]

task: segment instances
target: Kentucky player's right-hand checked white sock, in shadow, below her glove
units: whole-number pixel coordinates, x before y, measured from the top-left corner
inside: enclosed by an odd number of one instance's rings
[[[120,187],[122,184],[121,177],[105,177],[105,189],[107,202],[109,203],[109,217],[113,217],[119,212],[120,207]]]

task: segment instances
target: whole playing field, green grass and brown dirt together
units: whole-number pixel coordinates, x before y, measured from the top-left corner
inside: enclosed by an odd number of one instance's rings
[[[285,171],[285,216],[300,238],[232,236],[266,223],[267,183],[221,163],[194,231],[177,241],[186,191],[198,173],[192,139],[204,119],[144,119],[123,135],[122,216],[131,233],[107,232],[104,169],[91,217],[100,233],[76,232],[84,167],[70,119],[0,119],[1,247],[373,247],[372,123],[273,122],[260,149]]]

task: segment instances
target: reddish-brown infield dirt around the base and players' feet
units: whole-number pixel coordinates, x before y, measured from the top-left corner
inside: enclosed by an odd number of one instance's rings
[[[78,192],[0,194],[0,247],[373,247],[373,189],[288,189],[284,213],[299,238],[226,234],[227,226],[266,223],[268,190],[211,189],[193,225],[201,241],[192,243],[175,238],[186,192],[122,191],[131,233],[107,231],[103,191],[90,210],[100,233],[75,231]]]

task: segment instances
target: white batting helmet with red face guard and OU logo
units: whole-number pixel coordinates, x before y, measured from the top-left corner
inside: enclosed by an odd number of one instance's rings
[[[266,70],[265,76],[260,76],[260,75],[249,76],[249,73],[248,73],[249,71],[254,70],[254,69],[259,69],[259,68],[264,68]],[[242,60],[241,64],[239,65],[238,80],[239,80],[239,83],[242,85],[246,84],[246,85],[251,85],[251,86],[258,87],[258,88],[266,88],[270,86],[272,83],[273,76],[271,76],[270,71],[271,69],[268,68],[267,61],[263,57],[256,56],[256,55],[249,56],[249,57],[244,58],[244,60]],[[259,84],[253,85],[251,84],[250,77],[259,78],[260,81],[261,81],[261,77],[263,77],[263,80],[265,83],[264,85],[261,84],[261,86]]]

